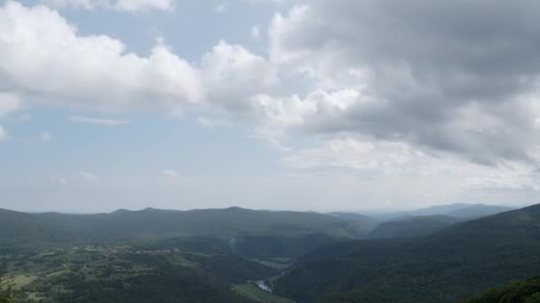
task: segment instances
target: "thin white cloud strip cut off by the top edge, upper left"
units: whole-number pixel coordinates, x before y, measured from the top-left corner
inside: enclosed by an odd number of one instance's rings
[[[174,11],[176,0],[41,0],[43,4],[59,8],[110,9],[136,12],[143,10]]]

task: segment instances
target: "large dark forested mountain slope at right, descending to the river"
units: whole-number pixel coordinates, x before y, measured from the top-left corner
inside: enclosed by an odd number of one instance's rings
[[[456,302],[540,272],[540,205],[408,239],[308,253],[274,281],[298,302]]]

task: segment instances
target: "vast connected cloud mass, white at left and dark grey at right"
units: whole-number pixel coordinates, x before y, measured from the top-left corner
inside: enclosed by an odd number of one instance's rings
[[[536,177],[537,9],[525,0],[314,0],[274,16],[267,56],[220,41],[188,63],[163,41],[141,57],[107,35],[79,35],[44,6],[8,2],[0,8],[0,79],[16,96],[40,96],[25,105],[223,110],[252,124],[290,168],[442,169],[461,181],[472,169],[492,181],[471,184],[496,184],[493,176],[514,163]]]

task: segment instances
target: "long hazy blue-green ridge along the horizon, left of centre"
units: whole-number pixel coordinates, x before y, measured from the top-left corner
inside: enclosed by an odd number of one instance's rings
[[[0,209],[0,244],[69,244],[215,235],[366,237],[369,224],[329,215],[231,207],[172,211],[147,208],[111,214],[27,214]]]

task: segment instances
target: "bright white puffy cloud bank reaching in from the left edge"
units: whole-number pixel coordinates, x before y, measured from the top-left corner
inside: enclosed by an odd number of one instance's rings
[[[34,102],[91,109],[170,109],[203,100],[195,67],[163,43],[148,57],[107,35],[77,35],[44,6],[0,6],[0,79]]]

